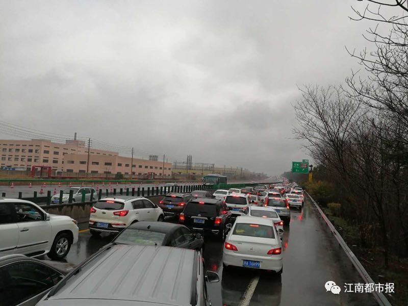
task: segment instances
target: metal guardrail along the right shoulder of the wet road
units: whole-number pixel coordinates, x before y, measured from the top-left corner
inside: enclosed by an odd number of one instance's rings
[[[363,267],[360,261],[355,257],[353,251],[348,247],[343,237],[341,237],[339,232],[337,232],[336,227],[333,225],[333,223],[330,222],[330,220],[327,218],[327,216],[324,214],[321,208],[317,205],[316,201],[311,197],[311,195],[308,192],[306,192],[306,194],[309,196],[313,204],[316,206],[321,217],[323,218],[323,220],[326,222],[327,226],[329,227],[331,234],[335,236],[340,246],[343,248],[344,252],[346,253],[347,257],[350,259],[351,263],[353,264],[354,268],[359,272],[360,276],[363,278],[363,281],[366,282],[366,284],[374,283],[373,279],[368,274],[366,269]],[[391,306],[391,303],[389,302],[389,300],[381,292],[373,291],[372,294],[379,305]]]

